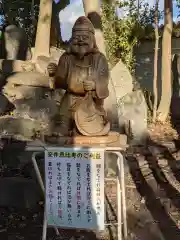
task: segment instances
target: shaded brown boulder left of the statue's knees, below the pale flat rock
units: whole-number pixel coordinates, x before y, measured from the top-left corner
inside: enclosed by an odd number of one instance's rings
[[[41,122],[49,122],[58,114],[58,107],[54,100],[16,100],[14,101],[16,109],[13,115],[16,117],[33,118]]]

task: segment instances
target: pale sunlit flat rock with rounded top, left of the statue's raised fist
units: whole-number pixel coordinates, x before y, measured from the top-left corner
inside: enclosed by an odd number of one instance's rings
[[[7,78],[9,84],[49,88],[49,78],[38,72],[21,72]]]

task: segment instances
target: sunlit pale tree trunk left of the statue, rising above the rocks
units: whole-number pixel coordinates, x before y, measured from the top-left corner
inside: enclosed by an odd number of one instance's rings
[[[51,18],[52,0],[40,0],[33,61],[36,61],[38,56],[49,57]]]

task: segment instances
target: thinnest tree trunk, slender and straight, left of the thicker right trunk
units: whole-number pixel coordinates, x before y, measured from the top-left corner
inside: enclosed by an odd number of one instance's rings
[[[156,120],[157,103],[158,103],[158,85],[157,85],[157,74],[158,74],[158,51],[159,51],[159,33],[158,33],[158,5],[159,0],[156,0],[155,5],[155,49],[154,49],[154,79],[153,79],[153,122]]]

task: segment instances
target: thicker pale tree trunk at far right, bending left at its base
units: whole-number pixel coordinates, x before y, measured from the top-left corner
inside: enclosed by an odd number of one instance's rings
[[[171,79],[171,37],[172,37],[172,0],[165,0],[165,24],[162,38],[162,92],[158,108],[158,120],[165,122],[170,109],[172,96]]]

